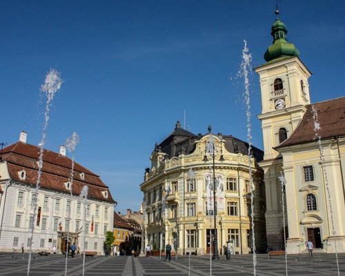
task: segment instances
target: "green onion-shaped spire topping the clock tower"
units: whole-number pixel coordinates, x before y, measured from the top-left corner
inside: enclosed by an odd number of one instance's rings
[[[299,55],[299,50],[293,45],[293,43],[288,43],[286,40],[286,30],[285,24],[279,20],[278,14],[279,10],[275,10],[277,19],[272,26],[273,45],[268,46],[265,52],[264,59],[266,61],[271,61],[279,57],[297,57]]]

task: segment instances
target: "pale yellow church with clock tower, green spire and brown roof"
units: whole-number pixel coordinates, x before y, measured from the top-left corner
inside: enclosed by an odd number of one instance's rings
[[[285,247],[285,228],[288,253],[306,250],[308,239],[326,252],[344,252],[345,98],[311,104],[311,72],[286,41],[286,32],[277,17],[267,62],[255,68],[262,94],[264,160],[259,165],[266,186],[268,247]]]

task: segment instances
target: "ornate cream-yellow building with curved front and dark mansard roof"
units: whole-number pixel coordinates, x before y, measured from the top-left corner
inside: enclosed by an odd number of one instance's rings
[[[214,155],[209,154],[210,144]],[[153,250],[162,250],[169,243],[179,255],[204,255],[213,252],[216,224],[219,253],[224,253],[228,241],[232,241],[235,253],[250,253],[253,184],[255,246],[257,251],[264,250],[265,191],[263,172],[257,165],[263,152],[255,147],[252,152],[249,159],[246,142],[230,135],[215,135],[210,127],[206,135],[195,135],[177,122],[175,130],[156,144],[150,156],[151,167],[140,185],[144,193],[142,248],[150,245]]]

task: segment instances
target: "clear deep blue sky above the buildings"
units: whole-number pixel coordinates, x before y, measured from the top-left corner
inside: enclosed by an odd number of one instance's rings
[[[116,210],[139,210],[139,184],[155,142],[176,121],[195,134],[246,139],[244,39],[253,67],[264,63],[279,18],[313,72],[312,102],[344,96],[344,1],[1,1],[0,142],[41,141],[50,68],[64,83],[50,110],[46,148],[72,132],[75,160],[101,176]],[[250,75],[254,145],[262,147],[258,78]],[[186,124],[184,123],[184,110]],[[69,155],[70,156],[70,155]],[[70,156],[71,157],[71,156]]]

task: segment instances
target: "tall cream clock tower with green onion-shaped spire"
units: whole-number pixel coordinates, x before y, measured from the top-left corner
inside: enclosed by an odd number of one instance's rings
[[[266,63],[255,68],[259,74],[262,95],[264,169],[266,186],[266,231],[268,247],[284,248],[282,186],[279,181],[282,157],[275,150],[296,129],[311,103],[308,78],[311,72],[299,59],[299,50],[286,40],[286,26],[277,19],[272,26],[273,45],[265,52]],[[287,219],[286,219],[287,221]],[[286,235],[288,235],[286,233]]]

